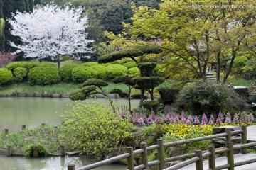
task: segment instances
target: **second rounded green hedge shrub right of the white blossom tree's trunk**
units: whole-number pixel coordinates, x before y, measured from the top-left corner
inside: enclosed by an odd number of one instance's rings
[[[85,66],[78,66],[72,70],[72,79],[77,82],[84,82],[87,79],[97,77],[94,69]]]

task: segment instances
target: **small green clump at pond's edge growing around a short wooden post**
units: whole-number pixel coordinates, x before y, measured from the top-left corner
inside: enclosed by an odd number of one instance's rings
[[[33,150],[36,149],[38,150],[38,156],[43,157],[46,156],[48,153],[46,147],[39,143],[35,143],[32,145],[29,145],[28,147],[25,148],[25,157],[33,157]]]

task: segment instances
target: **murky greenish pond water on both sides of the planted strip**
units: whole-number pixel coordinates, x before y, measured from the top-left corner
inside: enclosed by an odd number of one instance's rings
[[[100,103],[108,103],[105,98],[87,99],[82,102],[89,102],[97,100]],[[127,100],[112,99],[114,105],[121,107],[127,105]],[[16,132],[21,130],[22,125],[26,128],[34,128],[41,123],[50,125],[60,124],[60,114],[68,109],[67,105],[73,104],[69,98],[26,98],[26,97],[9,97],[0,98],[0,130],[9,128],[9,132]],[[137,107],[139,101],[132,101],[132,108]],[[75,167],[92,164],[92,159],[88,157],[47,157],[47,158],[33,158],[26,159],[24,157],[6,157],[0,154],[1,170],[59,170],[68,169],[68,164],[75,164]],[[121,164],[110,164],[102,166],[98,170],[117,170],[126,169],[126,166]]]

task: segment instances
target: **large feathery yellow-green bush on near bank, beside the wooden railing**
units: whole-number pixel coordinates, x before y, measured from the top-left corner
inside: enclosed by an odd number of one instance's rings
[[[82,149],[96,158],[105,157],[132,137],[132,125],[102,103],[75,103],[63,115],[63,135],[66,147]]]

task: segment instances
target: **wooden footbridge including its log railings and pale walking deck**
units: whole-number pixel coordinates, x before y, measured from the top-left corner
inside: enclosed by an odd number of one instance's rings
[[[247,148],[256,146],[256,135],[255,130],[256,126],[248,127],[249,132],[247,132],[247,127],[242,126],[240,130],[231,131],[230,127],[225,127],[225,132],[205,136],[205,137],[197,137],[189,140],[181,140],[177,142],[169,142],[164,143],[163,140],[157,140],[157,145],[146,146],[145,142],[142,142],[140,147],[141,149],[133,150],[132,147],[127,147],[127,153],[121,154],[117,157],[112,157],[110,159],[105,159],[101,162],[96,162],[95,164],[90,164],[87,166],[80,167],[75,169],[75,165],[68,165],[68,170],[89,170],[95,169],[100,166],[104,166],[106,164],[111,164],[113,162],[117,162],[122,159],[127,159],[127,170],[137,170],[137,169],[149,169],[150,166],[158,166],[159,170],[220,170],[220,169],[228,169],[228,170],[251,170],[256,167],[256,154],[247,154]],[[232,136],[233,135],[241,135],[241,143],[237,145],[233,145]],[[249,136],[247,138],[247,135]],[[226,146],[215,148],[214,145],[210,145],[208,150],[201,151],[196,150],[192,154],[183,154],[176,157],[168,157],[164,158],[164,148],[171,147],[175,145],[183,145],[190,142],[198,142],[203,140],[213,140],[215,138],[225,137]],[[250,143],[247,143],[247,140]],[[150,152],[153,149],[157,149],[157,159],[153,162],[148,162],[147,152]],[[234,154],[234,150],[240,149],[241,154]],[[215,158],[215,154],[225,153],[226,157]],[[142,164],[138,166],[134,166],[134,154],[140,154],[142,157]],[[184,160],[174,166],[166,167],[166,163],[176,161],[176,160]],[[208,161],[203,161],[208,159]],[[253,166],[252,166],[253,164]],[[236,168],[235,168],[236,167]]]

